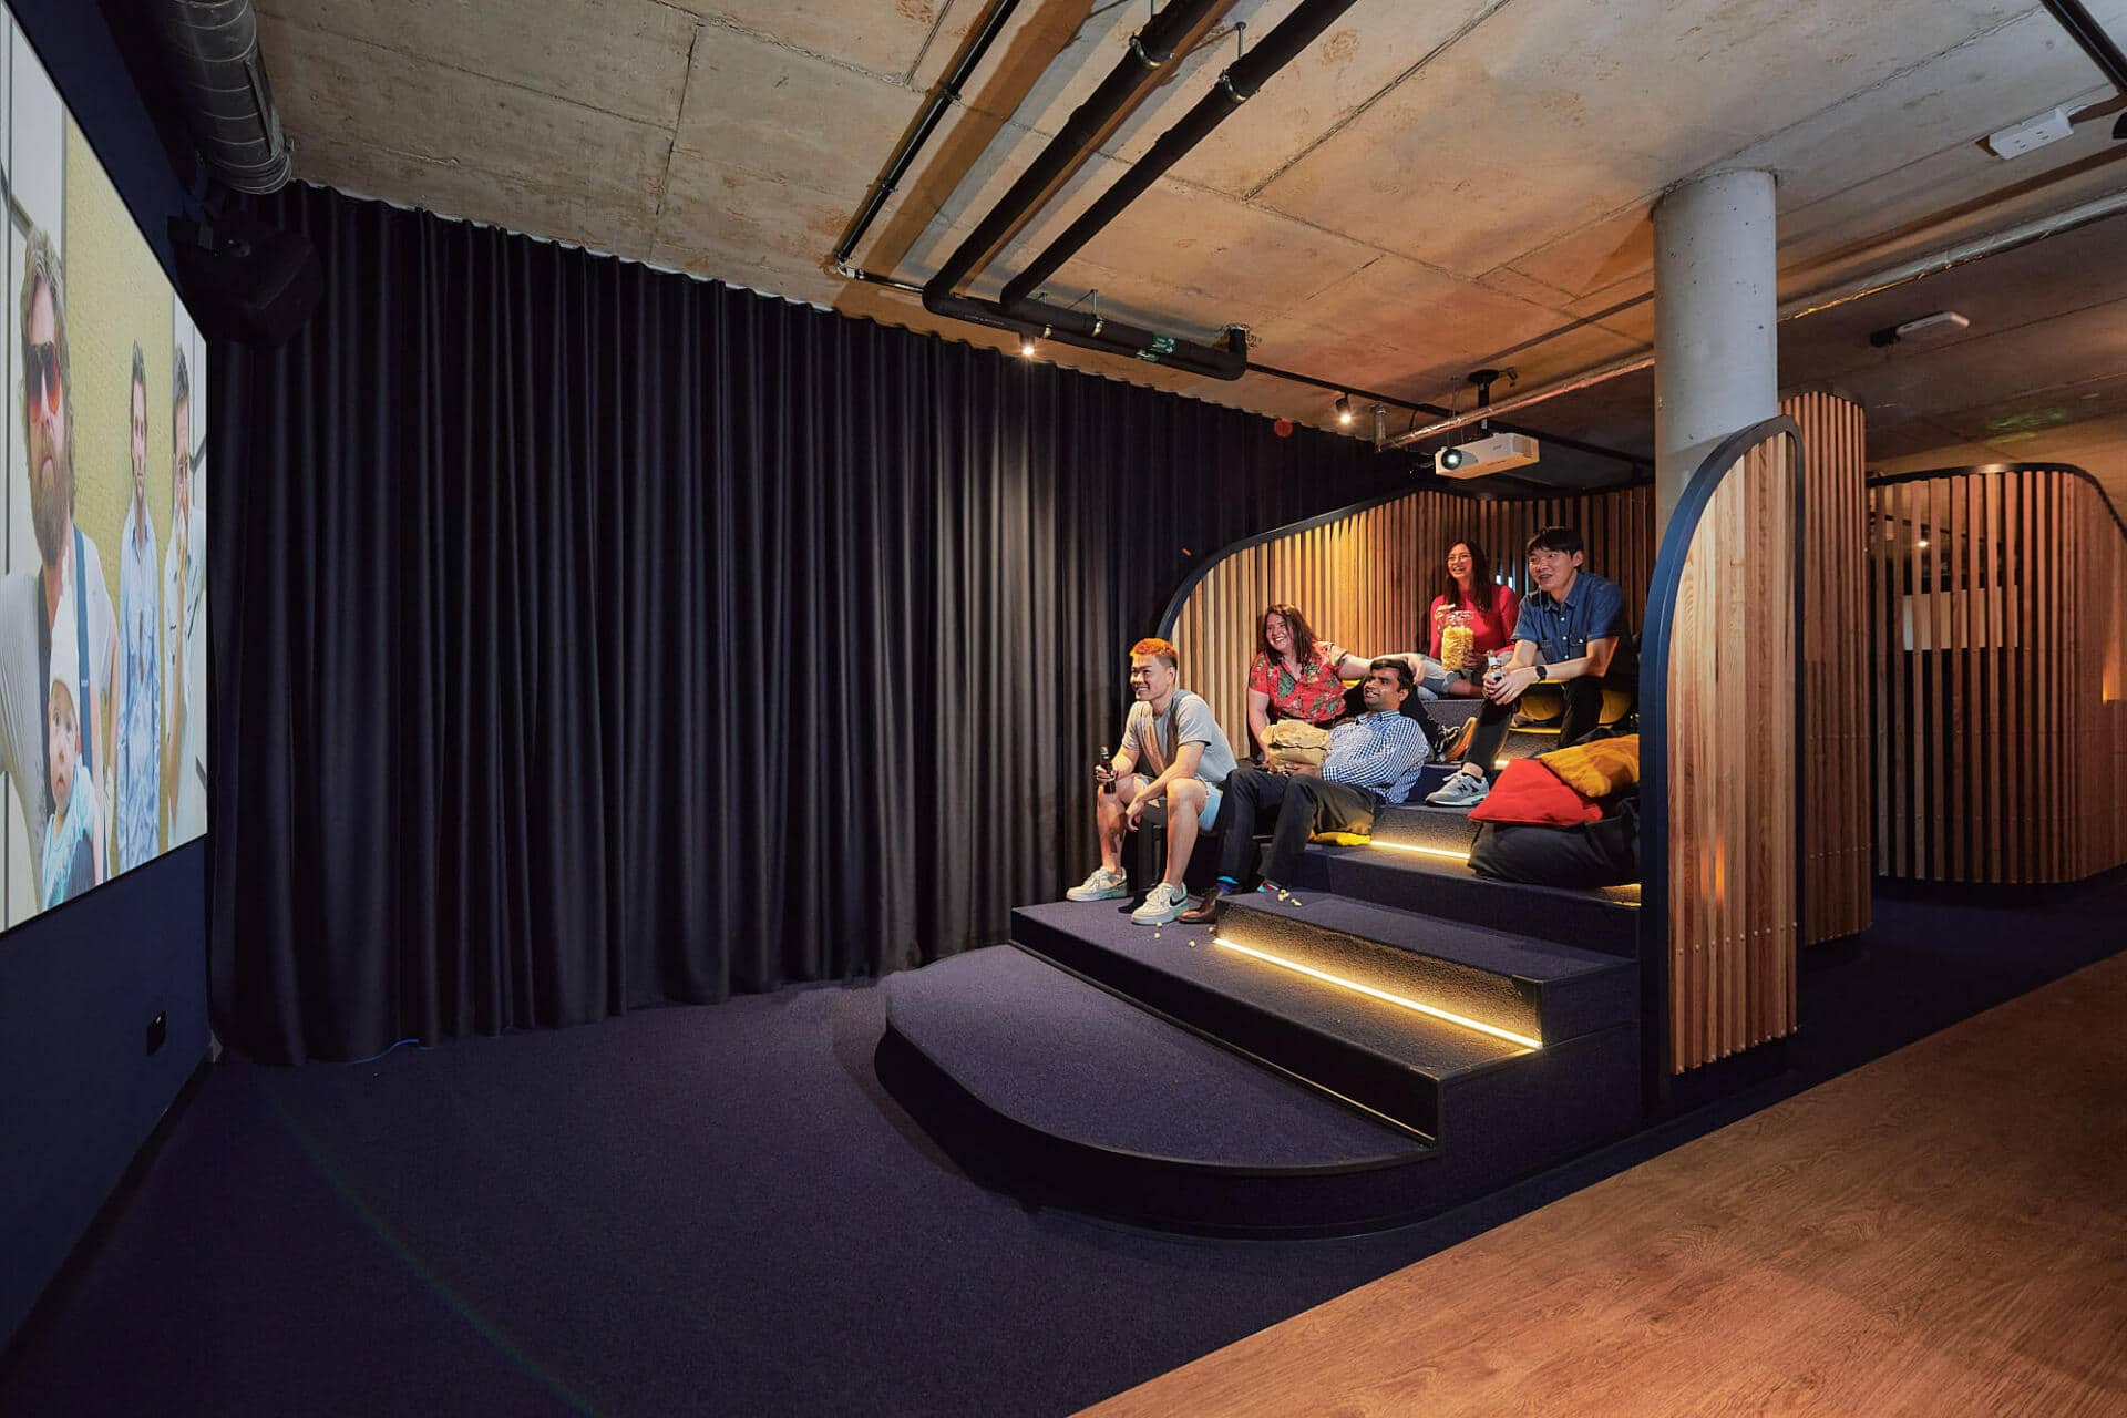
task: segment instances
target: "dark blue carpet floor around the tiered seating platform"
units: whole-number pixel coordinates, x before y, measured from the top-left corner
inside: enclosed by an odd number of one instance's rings
[[[1029,1214],[808,989],[379,1063],[225,1063],[0,1371],[26,1414],[1064,1414],[2121,946],[2127,889],[1878,901],[1789,1071],[1397,1233]],[[2042,1086],[2042,1084],[2040,1084]]]

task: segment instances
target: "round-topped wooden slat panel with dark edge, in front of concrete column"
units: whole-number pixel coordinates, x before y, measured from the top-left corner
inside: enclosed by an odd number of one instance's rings
[[[1699,519],[1668,685],[1670,1065],[1793,1033],[1795,453],[1751,449]]]

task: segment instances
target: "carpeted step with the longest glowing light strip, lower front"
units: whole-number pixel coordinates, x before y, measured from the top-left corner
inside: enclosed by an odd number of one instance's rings
[[[1342,895],[1229,897],[1217,940],[1255,952],[1249,959],[1266,969],[1317,972],[1544,1044],[1627,1025],[1640,1012],[1631,961]]]

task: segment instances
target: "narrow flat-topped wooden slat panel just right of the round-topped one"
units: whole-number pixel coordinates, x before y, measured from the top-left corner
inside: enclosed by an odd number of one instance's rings
[[[1780,402],[1802,427],[1802,944],[1870,925],[1868,466],[1861,406],[1831,393]]]

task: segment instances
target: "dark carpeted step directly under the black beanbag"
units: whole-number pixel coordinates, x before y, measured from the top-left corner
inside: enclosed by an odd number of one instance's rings
[[[1376,846],[1325,853],[1310,874],[1312,889],[1604,955],[1638,957],[1638,887],[1574,889],[1495,882],[1457,861],[1455,855],[1461,848],[1404,850],[1383,846],[1383,842],[1397,840],[1408,842],[1402,835],[1376,833]],[[1448,838],[1442,833],[1440,840]]]

